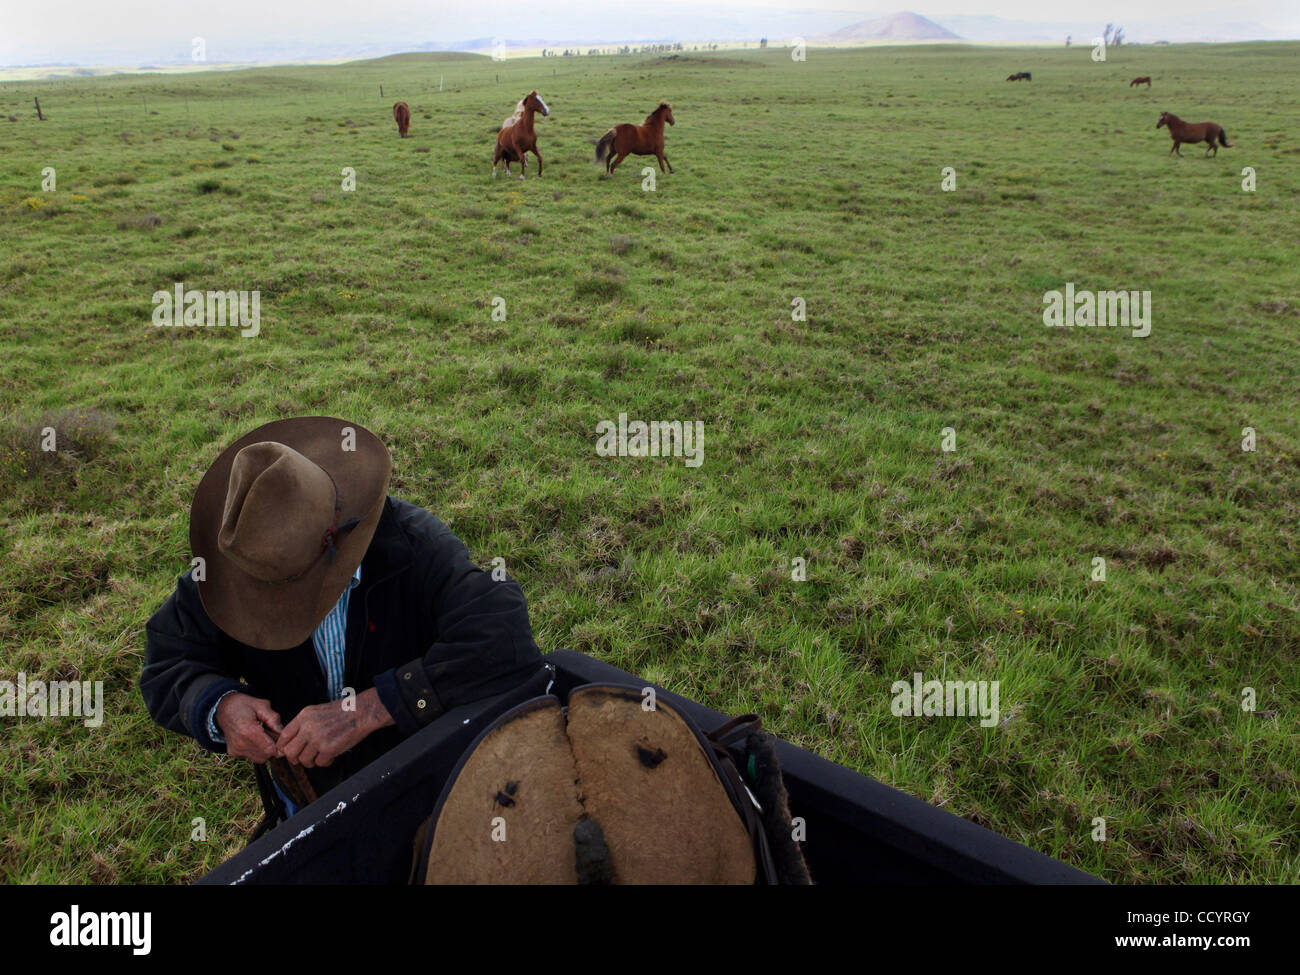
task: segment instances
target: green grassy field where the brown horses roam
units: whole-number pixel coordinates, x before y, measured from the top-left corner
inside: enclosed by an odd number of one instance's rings
[[[1112,881],[1296,883],[1297,55],[403,56],[0,86],[0,679],[103,680],[108,712],[0,719],[0,878],[186,881],[242,846],[251,771],[150,722],[143,628],[217,452],[328,413],[506,560],[543,649],[757,711]],[[545,174],[493,181],[534,87]],[[601,176],[593,140],[660,99],[676,174]],[[1167,157],[1161,110],[1235,148]],[[178,281],[260,290],[260,335],[153,326]],[[1149,290],[1150,335],[1045,328],[1066,282]],[[703,464],[598,456],[620,412],[701,420]],[[1000,723],[893,716],[916,671],[1000,681]]]

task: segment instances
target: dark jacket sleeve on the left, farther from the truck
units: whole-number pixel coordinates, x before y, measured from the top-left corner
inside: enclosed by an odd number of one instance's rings
[[[254,694],[238,679],[228,638],[208,618],[190,573],[144,628],[144,706],[168,731],[188,734],[209,751],[224,753],[225,742],[208,733],[208,712],[230,690]]]

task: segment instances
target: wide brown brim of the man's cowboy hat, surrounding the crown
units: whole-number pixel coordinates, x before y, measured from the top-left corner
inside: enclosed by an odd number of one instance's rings
[[[355,450],[343,450],[343,430],[355,432]],[[359,524],[335,540],[333,558],[317,560],[291,582],[264,582],[243,572],[217,545],[230,467],[251,443],[272,441],[292,447],[318,464],[338,488],[339,524]],[[384,514],[393,458],[365,428],[333,416],[277,420],[231,443],[208,468],[190,506],[190,549],[204,560],[198,581],[203,608],[228,636],[260,650],[290,650],[325,619],[361,564]]]

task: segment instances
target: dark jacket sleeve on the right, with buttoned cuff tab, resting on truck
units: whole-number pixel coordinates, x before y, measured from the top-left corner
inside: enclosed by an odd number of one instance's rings
[[[406,506],[413,508],[413,506]],[[502,694],[537,672],[528,602],[519,584],[478,568],[442,521],[422,508],[408,517],[424,611],[438,633],[422,656],[378,673],[374,688],[404,734],[445,711]]]

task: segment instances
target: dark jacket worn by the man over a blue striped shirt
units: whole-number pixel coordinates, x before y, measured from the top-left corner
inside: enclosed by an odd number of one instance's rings
[[[344,685],[376,688],[396,727],[372,733],[326,768],[307,770],[317,793],[352,775],[445,711],[503,693],[541,667],[519,584],[497,582],[424,508],[385,502],[347,608]],[[270,701],[281,722],[326,701],[308,637],[257,650],[208,618],[190,572],[146,627],[140,693],[153,720],[211,751],[207,715],[228,690]]]

